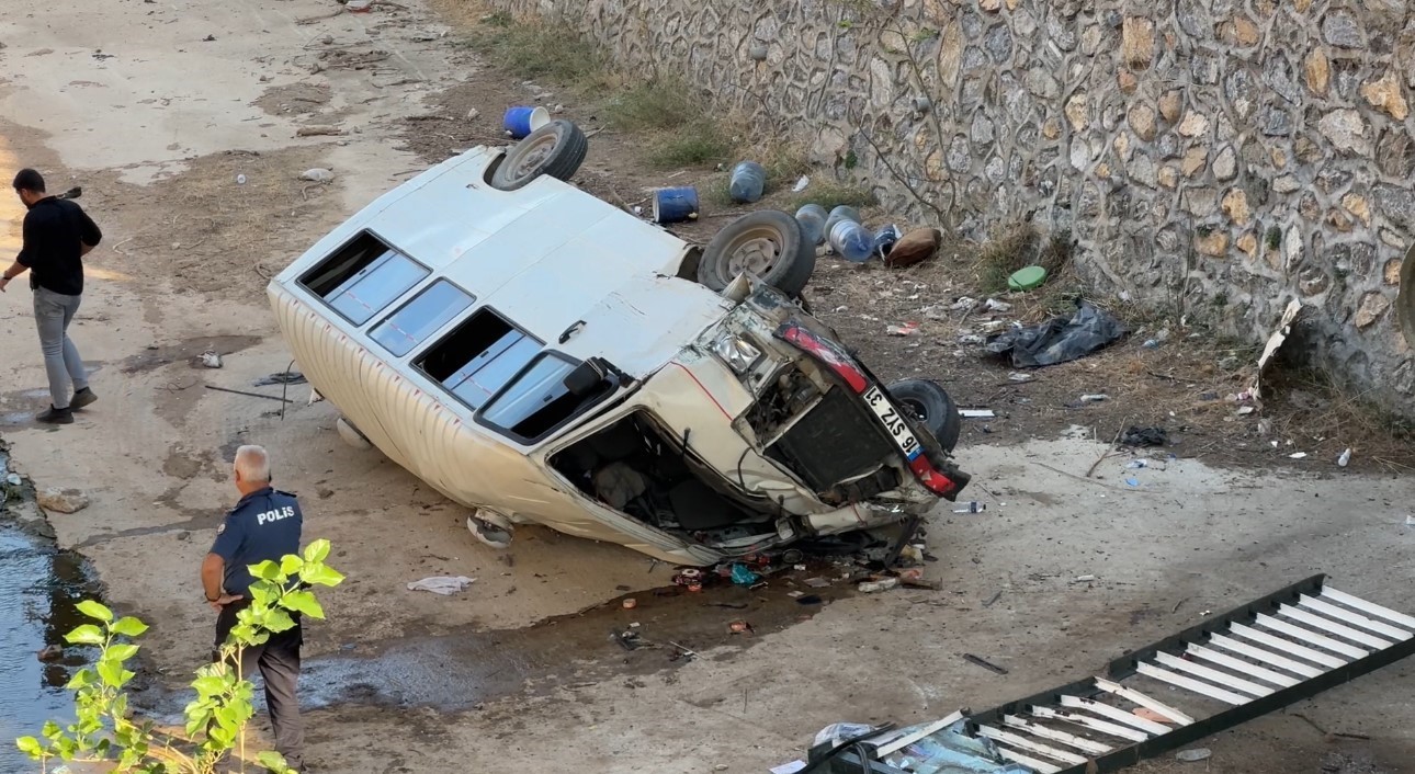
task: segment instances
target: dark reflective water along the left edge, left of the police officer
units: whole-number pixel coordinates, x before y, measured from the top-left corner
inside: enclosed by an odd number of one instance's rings
[[[0,447],[0,481],[6,475]],[[3,499],[0,491],[0,508]],[[96,593],[82,556],[59,550],[52,539],[0,511],[0,771],[31,771],[14,739],[37,734],[48,719],[72,717],[64,685],[88,654],[69,647],[54,661],[40,661],[38,652],[64,645],[64,635],[83,623],[74,606]]]

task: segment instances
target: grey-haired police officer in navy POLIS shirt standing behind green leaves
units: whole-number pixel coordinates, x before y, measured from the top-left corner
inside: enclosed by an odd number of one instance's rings
[[[236,613],[248,607],[246,599],[255,579],[246,569],[265,560],[280,562],[287,553],[300,552],[303,515],[294,495],[270,487],[270,454],[259,446],[242,446],[233,464],[241,502],[216,528],[216,541],[201,563],[201,584],[207,601],[216,610],[216,648],[236,624]],[[272,634],[263,645],[246,648],[242,674],[260,669],[265,679],[266,706],[275,727],[276,751],[291,768],[303,771],[301,749],[304,724],[294,688],[300,678],[300,618],[289,631]]]

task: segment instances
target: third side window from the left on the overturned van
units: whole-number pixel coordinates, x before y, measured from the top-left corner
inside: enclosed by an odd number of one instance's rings
[[[463,403],[480,409],[539,352],[539,341],[483,308],[423,352],[413,365]]]

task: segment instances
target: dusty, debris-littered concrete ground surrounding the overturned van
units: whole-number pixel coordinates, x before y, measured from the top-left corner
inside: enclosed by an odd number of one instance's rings
[[[1242,391],[1247,359],[1221,365],[1237,355],[1177,324],[1160,350],[1142,350],[1139,334],[1012,383],[1010,368],[958,342],[978,325],[976,313],[949,308],[972,294],[966,248],[907,272],[822,259],[808,290],[882,376],[934,376],[961,405],[999,415],[969,420],[959,449],[976,481],[969,497],[988,511],[942,508],[928,526],[938,558],[928,573],[942,591],[855,596],[836,583],[818,591],[822,604],[802,606],[787,591],[829,570],[812,567],[756,593],[659,596],[669,569],[620,548],[524,528],[509,552],[492,552],[467,533],[461,508],[340,443],[334,409],[306,405],[307,388],[282,403],[282,388],[253,386],[290,364],[263,287],[429,161],[497,141],[507,105],[539,93],[587,127],[596,106],[484,67],[456,45],[478,14],[451,0],[369,14],[331,0],[11,6],[0,18],[0,174],[35,166],[54,188],[82,184],[106,238],[72,328],[100,402],[58,430],[30,422],[44,372],[30,297],[16,283],[0,296],[0,358],[14,364],[0,382],[0,434],[41,487],[91,495],[89,508],[51,521],[62,545],[91,558],[108,599],[153,624],[144,649],[154,696],[180,688],[209,644],[195,574],[233,501],[231,453],[241,443],[275,451],[279,485],[306,504],[307,536],[330,538],[333,563],[350,576],[325,596],[330,621],[307,634],[301,691],[317,771],[764,771],[828,723],[988,707],[1091,675],[1203,611],[1316,572],[1415,608],[1392,583],[1415,569],[1401,444],[1360,424],[1305,426],[1303,416],[1334,413],[1313,391],[1238,415],[1225,398]],[[665,178],[713,175],[647,173],[635,153],[633,137],[597,134],[579,183],[633,205]],[[310,167],[337,178],[300,180]],[[708,211],[683,235],[706,239],[730,214]],[[0,253],[17,249],[20,215],[0,197]],[[886,334],[911,320],[918,334]],[[201,368],[207,350],[222,352],[225,368]],[[1087,392],[1112,399],[1077,405]],[[1286,412],[1293,400],[1300,406]],[[1125,467],[1131,451],[1101,460],[1125,424],[1163,424],[1179,443],[1148,451],[1143,470]],[[1357,461],[1339,468],[1347,446]],[[1310,457],[1289,460],[1298,450]],[[454,597],[405,589],[432,574],[477,582]],[[1095,580],[1074,582],[1084,574]],[[624,596],[638,607],[624,610]],[[729,634],[733,620],[754,633]],[[631,623],[654,644],[700,655],[624,651],[608,634]],[[1405,771],[1415,760],[1402,712],[1412,669],[1390,666],[1206,740],[1214,754],[1204,770]],[[1329,741],[1313,724],[1365,739]],[[1166,757],[1136,768],[1170,770],[1199,764]]]

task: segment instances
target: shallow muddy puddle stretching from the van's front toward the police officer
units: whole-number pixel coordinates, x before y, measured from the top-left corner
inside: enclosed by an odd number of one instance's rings
[[[850,593],[849,586],[809,589],[799,580],[774,577],[757,590],[727,586],[702,593],[640,591],[631,594],[634,608],[625,608],[620,597],[525,628],[468,627],[366,647],[368,652],[359,647],[311,658],[300,678],[300,702],[311,709],[364,703],[457,710],[512,693],[538,695],[675,669],[688,662],[682,648],[703,652],[727,645],[736,649],[715,651],[713,658],[733,658],[763,635],[808,620]],[[788,596],[792,589],[809,593],[802,599],[812,604]],[[734,621],[750,630],[733,633]],[[634,649],[613,637],[623,633],[637,635]]]

